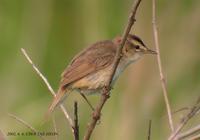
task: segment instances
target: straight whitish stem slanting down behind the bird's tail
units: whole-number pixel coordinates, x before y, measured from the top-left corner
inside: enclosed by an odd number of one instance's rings
[[[28,54],[26,53],[26,51],[21,48],[21,51],[23,53],[23,55],[26,57],[26,59],[28,60],[28,62],[32,65],[33,69],[36,71],[36,73],[40,76],[40,78],[44,81],[44,83],[46,84],[48,90],[50,91],[50,93],[55,97],[56,94],[53,90],[53,88],[51,87],[51,85],[49,84],[48,80],[46,79],[46,77],[39,71],[39,69],[35,66],[35,64],[33,63],[33,61],[31,60],[31,58],[28,56]],[[69,114],[67,113],[65,107],[60,104],[60,108],[62,110],[62,112],[64,113],[64,116],[65,118],[67,119],[67,121],[69,122],[70,126],[71,126],[71,130],[72,132],[74,133],[74,130],[73,130],[73,121],[71,119],[71,117],[69,116]]]

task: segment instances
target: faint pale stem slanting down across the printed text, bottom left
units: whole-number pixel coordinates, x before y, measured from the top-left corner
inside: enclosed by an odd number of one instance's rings
[[[45,140],[44,137],[42,137],[38,131],[33,128],[30,124],[28,124],[27,122],[25,122],[24,120],[20,119],[19,117],[13,115],[13,114],[8,114],[11,118],[17,120],[19,123],[23,124],[24,126],[26,126],[28,129],[30,129],[32,132],[36,133],[36,136],[40,137],[40,139]]]

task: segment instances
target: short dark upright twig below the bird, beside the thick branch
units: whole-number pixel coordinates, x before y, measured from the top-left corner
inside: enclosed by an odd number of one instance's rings
[[[74,140],[79,140],[78,103],[74,102]]]

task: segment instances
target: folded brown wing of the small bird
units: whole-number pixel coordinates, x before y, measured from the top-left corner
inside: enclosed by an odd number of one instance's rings
[[[93,44],[75,56],[71,64],[62,73],[60,86],[68,84],[109,66],[116,54],[116,45],[112,41]]]

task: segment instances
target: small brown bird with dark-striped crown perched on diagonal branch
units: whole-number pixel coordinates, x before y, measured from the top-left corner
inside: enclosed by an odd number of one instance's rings
[[[76,55],[62,73],[58,92],[49,107],[48,114],[53,112],[54,108],[72,90],[76,90],[82,95],[101,93],[111,75],[117,48],[120,44],[121,37],[100,41]],[[138,36],[129,34],[112,85],[129,64],[144,54],[156,54],[156,52],[147,48]]]

